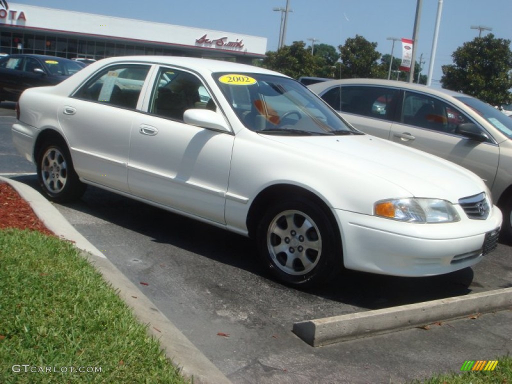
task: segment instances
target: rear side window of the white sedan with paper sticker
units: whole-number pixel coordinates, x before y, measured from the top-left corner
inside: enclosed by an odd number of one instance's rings
[[[83,100],[135,109],[150,66],[125,65],[109,67],[86,84],[73,96]]]

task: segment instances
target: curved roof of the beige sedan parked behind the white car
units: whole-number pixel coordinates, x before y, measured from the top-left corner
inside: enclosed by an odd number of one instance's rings
[[[338,86],[338,85],[365,85],[365,86],[382,86],[382,87],[393,87],[411,91],[426,92],[431,95],[437,95],[440,97],[448,96],[465,96],[473,97],[460,92],[450,91],[444,88],[432,88],[422,84],[409,83],[404,81],[396,80],[383,80],[383,79],[366,79],[366,78],[355,78],[355,79],[341,79],[341,80],[330,80],[321,83],[311,84],[308,88],[315,93],[322,93],[324,90]]]

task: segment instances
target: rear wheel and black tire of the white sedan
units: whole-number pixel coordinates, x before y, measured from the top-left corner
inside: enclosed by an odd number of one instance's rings
[[[63,140],[49,140],[37,155],[37,178],[49,200],[64,203],[79,199],[86,190],[73,168],[68,146]]]

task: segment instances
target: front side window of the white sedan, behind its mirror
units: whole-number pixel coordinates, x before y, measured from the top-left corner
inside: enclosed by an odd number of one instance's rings
[[[188,109],[217,110],[202,81],[189,72],[161,68],[155,81],[149,112],[183,121]]]

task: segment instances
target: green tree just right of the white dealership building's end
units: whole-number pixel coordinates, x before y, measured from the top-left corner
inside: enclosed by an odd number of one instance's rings
[[[301,76],[316,76],[319,60],[311,55],[311,50],[306,49],[304,41],[293,41],[291,46],[284,46],[277,52],[267,52],[262,66],[293,78],[299,78]]]

